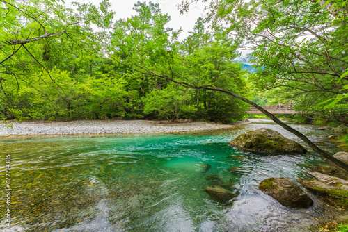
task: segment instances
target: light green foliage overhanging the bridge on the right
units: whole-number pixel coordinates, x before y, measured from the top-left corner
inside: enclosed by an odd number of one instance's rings
[[[252,49],[256,90],[274,90],[274,101],[348,125],[347,1],[326,3],[220,0],[210,9],[216,33]]]

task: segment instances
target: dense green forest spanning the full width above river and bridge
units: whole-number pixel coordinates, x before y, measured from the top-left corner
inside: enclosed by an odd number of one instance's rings
[[[107,0],[1,0],[0,11],[3,119],[228,123],[247,104],[227,91],[348,126],[344,0],[212,1],[183,41],[158,3],[118,20]],[[236,61],[241,49],[255,72]]]

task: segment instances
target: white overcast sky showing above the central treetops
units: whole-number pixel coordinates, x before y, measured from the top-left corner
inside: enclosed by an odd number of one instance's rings
[[[98,6],[100,0],[74,0],[79,3],[93,3],[95,6]],[[135,11],[132,9],[134,3],[138,0],[110,0],[111,8],[116,11],[116,19],[127,18],[135,15]],[[193,31],[193,26],[196,23],[198,17],[203,16],[204,3],[198,3],[196,5],[192,5],[189,13],[184,13],[184,15],[180,15],[180,11],[177,9],[177,5],[181,3],[182,0],[152,0],[153,3],[159,3],[159,8],[162,13],[167,13],[171,16],[171,22],[169,22],[166,26],[171,27],[174,31],[179,30],[180,26],[182,28],[182,33],[180,35],[180,40],[189,35],[189,31]],[[67,6],[70,6],[70,1],[65,1]],[[144,2],[144,1],[141,1]],[[150,1],[146,1],[149,3]]]

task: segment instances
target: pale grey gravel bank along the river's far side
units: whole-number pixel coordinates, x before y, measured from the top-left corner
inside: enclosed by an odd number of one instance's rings
[[[13,122],[9,128],[0,125],[4,135],[76,135],[76,134],[129,134],[129,133],[176,133],[230,129],[233,125],[209,124],[207,122],[167,123],[145,120],[110,121],[80,120],[73,122]]]

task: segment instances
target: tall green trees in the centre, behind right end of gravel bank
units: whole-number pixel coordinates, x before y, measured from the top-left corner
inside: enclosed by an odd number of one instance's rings
[[[179,85],[168,85],[175,81],[244,92],[244,73],[232,61],[237,56],[235,47],[206,33],[201,18],[195,31],[180,44],[176,40],[178,32],[165,27],[169,17],[161,14],[158,4],[137,3],[134,10],[138,15],[116,22],[108,49],[120,58],[115,62],[127,68],[127,75],[138,73],[140,78],[147,78],[141,88],[145,94],[144,113],[157,112],[168,120],[180,115],[219,122],[242,119],[244,104],[225,94],[184,91]]]

